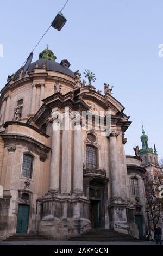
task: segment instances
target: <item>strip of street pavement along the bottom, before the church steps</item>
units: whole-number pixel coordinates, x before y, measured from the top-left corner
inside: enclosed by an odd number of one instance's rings
[[[0,241],[1,245],[156,245],[155,242]]]

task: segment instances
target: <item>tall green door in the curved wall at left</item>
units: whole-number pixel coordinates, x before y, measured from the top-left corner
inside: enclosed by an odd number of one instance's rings
[[[18,205],[16,233],[26,234],[28,230],[28,221],[29,221],[29,205],[25,205],[25,204]]]

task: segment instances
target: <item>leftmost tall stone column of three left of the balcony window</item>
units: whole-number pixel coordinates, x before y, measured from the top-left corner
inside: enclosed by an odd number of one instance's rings
[[[59,167],[60,167],[60,125],[56,119],[50,120],[53,127],[52,152],[50,167],[49,192],[59,192]]]

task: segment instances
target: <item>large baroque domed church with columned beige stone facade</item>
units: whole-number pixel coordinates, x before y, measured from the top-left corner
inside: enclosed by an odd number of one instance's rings
[[[139,155],[125,155],[129,117],[109,85],[103,95],[68,60],[55,59],[44,50],[1,90],[0,239],[15,233],[68,239],[91,228],[139,238],[148,225],[145,168]],[[75,111],[93,113],[93,127]],[[106,122],[108,111],[111,131],[101,136],[97,113]],[[74,130],[60,129],[58,113],[68,126],[75,120]]]

